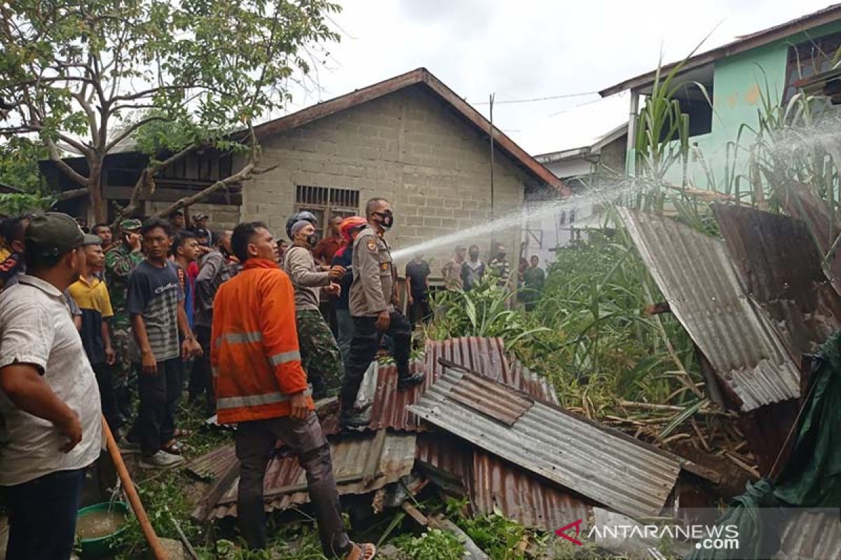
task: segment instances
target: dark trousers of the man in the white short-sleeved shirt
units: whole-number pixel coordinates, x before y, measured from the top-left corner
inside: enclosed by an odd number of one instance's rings
[[[9,486],[6,560],[67,560],[85,471],[64,470]]]

